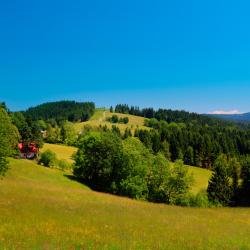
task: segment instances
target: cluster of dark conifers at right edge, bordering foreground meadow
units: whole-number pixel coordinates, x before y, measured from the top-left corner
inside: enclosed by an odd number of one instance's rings
[[[250,206],[250,157],[220,155],[213,166],[208,198],[223,206]]]

